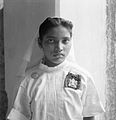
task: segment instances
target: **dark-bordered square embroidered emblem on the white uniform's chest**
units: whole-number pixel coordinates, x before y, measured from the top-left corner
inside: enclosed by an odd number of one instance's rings
[[[75,75],[69,72],[65,78],[64,87],[73,88],[75,90],[80,89],[81,75]]]

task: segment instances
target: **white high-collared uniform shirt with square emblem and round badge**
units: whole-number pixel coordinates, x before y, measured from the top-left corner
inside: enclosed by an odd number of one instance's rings
[[[20,84],[10,120],[82,120],[103,112],[88,73],[67,61],[56,67],[40,64]]]

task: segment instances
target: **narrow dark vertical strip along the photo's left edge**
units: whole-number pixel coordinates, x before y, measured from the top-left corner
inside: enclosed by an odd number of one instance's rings
[[[1,8],[0,2],[0,120],[5,120],[7,109],[8,98],[5,91],[3,8]]]

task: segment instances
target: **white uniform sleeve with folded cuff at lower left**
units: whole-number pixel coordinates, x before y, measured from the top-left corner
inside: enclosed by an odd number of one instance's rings
[[[30,120],[31,110],[26,91],[26,81],[22,81],[20,84],[13,108],[7,118],[9,120]]]

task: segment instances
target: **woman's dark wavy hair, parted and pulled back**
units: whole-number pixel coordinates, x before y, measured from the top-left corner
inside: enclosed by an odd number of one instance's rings
[[[39,42],[42,42],[42,39],[43,39],[44,35],[51,28],[58,27],[60,25],[67,28],[70,32],[71,37],[72,37],[73,24],[72,24],[71,21],[65,20],[63,18],[58,18],[58,17],[53,17],[53,18],[48,17],[48,18],[45,19],[45,21],[39,27],[39,38],[40,38]]]

